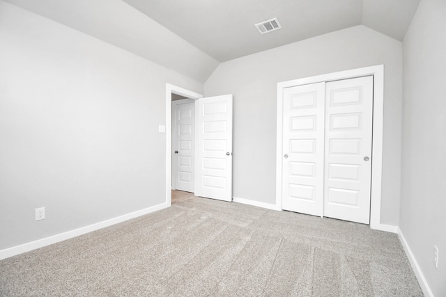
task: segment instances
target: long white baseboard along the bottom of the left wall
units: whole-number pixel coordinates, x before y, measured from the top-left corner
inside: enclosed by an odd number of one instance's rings
[[[0,260],[6,259],[8,257],[13,257],[15,255],[20,255],[24,252],[29,252],[31,250],[36,250],[37,248],[43,248],[44,246],[49,246],[50,244],[57,243],[59,241],[64,241],[67,239],[71,239],[73,237],[86,234],[89,232],[93,232],[95,230],[102,229],[104,227],[109,227],[111,225],[115,225],[117,223],[122,223],[125,220],[130,220],[132,218],[137,218],[138,216],[144,216],[145,214],[150,214],[151,212],[158,211],[161,209],[165,209],[169,207],[167,202],[162,204],[155,205],[153,207],[148,207],[146,209],[141,209],[139,211],[134,211],[130,214],[125,214],[123,216],[118,216],[116,218],[111,218],[109,220],[104,220],[100,223],[95,223],[93,225],[88,225],[85,227],[81,227],[79,229],[71,230],[68,232],[63,232],[61,234],[56,234],[53,236],[46,237],[44,239],[38,239],[36,241],[31,241],[29,243],[24,243],[20,246],[13,246],[12,248],[6,248],[4,250],[0,250]]]

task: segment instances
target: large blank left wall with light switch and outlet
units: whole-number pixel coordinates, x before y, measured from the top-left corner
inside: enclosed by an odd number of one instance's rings
[[[0,250],[165,202],[166,83],[201,83],[3,1],[0,43]]]

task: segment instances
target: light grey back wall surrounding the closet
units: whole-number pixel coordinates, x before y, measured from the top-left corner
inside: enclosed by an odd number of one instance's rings
[[[381,223],[398,225],[402,45],[365,26],[336,31],[222,63],[206,96],[234,95],[233,196],[275,203],[277,83],[385,65]]]

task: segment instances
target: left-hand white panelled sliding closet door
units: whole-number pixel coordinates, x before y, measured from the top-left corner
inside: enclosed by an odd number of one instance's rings
[[[325,83],[284,90],[282,208],[323,215]]]

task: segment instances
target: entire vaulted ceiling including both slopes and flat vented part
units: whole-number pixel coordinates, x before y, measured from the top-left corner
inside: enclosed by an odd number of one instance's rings
[[[2,1],[2,0],[0,0]],[[219,63],[351,26],[403,40],[420,0],[3,0],[204,82]],[[282,29],[254,24],[277,17]]]

